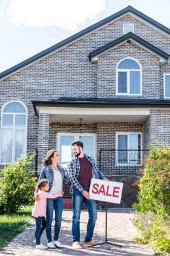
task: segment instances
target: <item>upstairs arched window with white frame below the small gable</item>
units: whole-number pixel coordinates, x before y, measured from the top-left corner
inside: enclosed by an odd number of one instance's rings
[[[116,67],[116,94],[142,94],[142,69],[134,59],[123,59]]]

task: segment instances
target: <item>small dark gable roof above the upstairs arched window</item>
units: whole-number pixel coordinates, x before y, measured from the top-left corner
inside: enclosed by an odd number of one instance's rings
[[[137,44],[140,44],[140,46],[149,52],[152,52],[154,55],[157,55],[159,58],[161,58],[161,62],[165,62],[169,59],[169,55],[157,47],[155,47],[153,44],[150,44],[149,42],[146,42],[139,36],[136,36],[132,32],[129,32],[128,34],[125,34],[124,36],[121,36],[120,38],[110,42],[109,44],[105,44],[104,46],[100,47],[99,49],[93,51],[89,54],[89,60],[93,63],[97,62],[97,57],[110,49],[113,49],[115,46],[118,46],[119,44],[122,44],[126,41],[132,41],[136,42]]]

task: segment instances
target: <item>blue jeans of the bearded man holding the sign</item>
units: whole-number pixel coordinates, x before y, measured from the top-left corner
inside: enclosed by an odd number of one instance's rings
[[[89,212],[89,220],[87,223],[87,234],[85,236],[85,242],[90,242],[93,236],[95,228],[95,222],[97,220],[97,205],[93,200],[88,200],[83,197],[79,191],[73,191],[73,220],[72,220],[72,234],[73,242],[80,241],[80,214],[81,205],[85,203]]]

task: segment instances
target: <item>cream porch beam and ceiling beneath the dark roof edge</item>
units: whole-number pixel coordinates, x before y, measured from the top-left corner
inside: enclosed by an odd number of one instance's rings
[[[150,115],[146,108],[71,108],[71,107],[40,107],[40,113],[50,115],[50,122],[83,123],[96,122],[135,122],[144,123]]]

